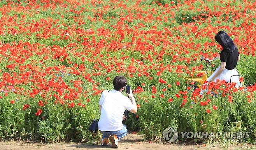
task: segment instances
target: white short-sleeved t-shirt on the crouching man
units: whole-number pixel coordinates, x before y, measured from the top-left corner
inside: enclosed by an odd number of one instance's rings
[[[133,109],[131,100],[117,90],[104,90],[100,96],[101,107],[98,129],[100,131],[118,131],[123,129],[125,109]]]

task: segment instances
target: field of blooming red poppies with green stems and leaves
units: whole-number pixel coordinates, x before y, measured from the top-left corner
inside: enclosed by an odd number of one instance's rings
[[[100,94],[123,75],[138,107],[128,130],[248,131],[238,141],[255,143],[255,12],[254,0],[2,0],[0,139],[99,140],[88,127]],[[209,82],[200,94],[183,77],[219,56],[221,30],[240,52],[242,87]]]

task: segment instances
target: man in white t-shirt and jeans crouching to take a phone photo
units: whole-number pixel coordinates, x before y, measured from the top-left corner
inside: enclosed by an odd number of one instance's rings
[[[125,109],[132,113],[137,113],[137,104],[130,90],[130,94],[123,95],[126,78],[116,76],[113,80],[114,90],[104,90],[101,94],[100,105],[100,120],[98,129],[102,133],[102,145],[108,146],[107,143],[112,143],[112,148],[118,148],[118,141],[127,135],[126,126],[122,123]]]

